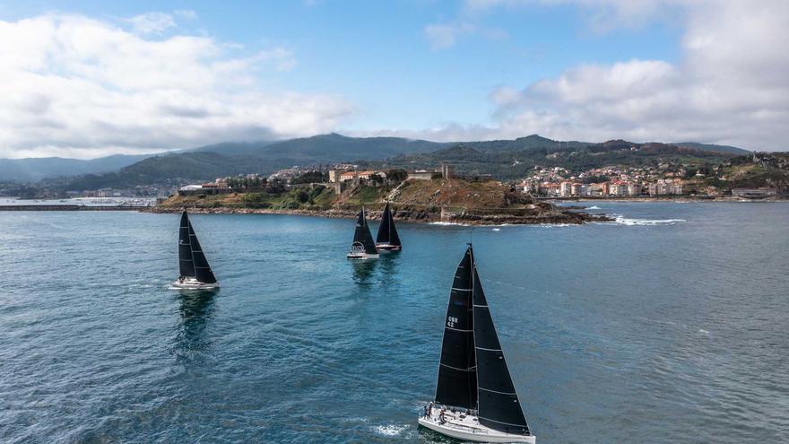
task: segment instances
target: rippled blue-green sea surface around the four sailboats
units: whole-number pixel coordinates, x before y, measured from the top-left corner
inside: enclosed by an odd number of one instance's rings
[[[0,442],[453,442],[416,419],[472,238],[537,442],[786,442],[789,205],[594,206],[366,263],[351,220],[195,215],[215,294],[169,289],[178,214],[0,213]]]

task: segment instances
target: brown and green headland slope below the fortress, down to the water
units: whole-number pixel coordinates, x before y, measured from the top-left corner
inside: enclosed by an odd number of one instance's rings
[[[225,195],[171,196],[152,209],[174,213],[289,213],[326,217],[353,217],[364,205],[370,219],[379,219],[386,197],[394,187],[358,187],[341,196],[331,188],[293,187]],[[405,182],[391,203],[395,219],[406,222],[583,223],[608,220],[547,203],[535,204],[499,182],[469,182],[459,178]]]

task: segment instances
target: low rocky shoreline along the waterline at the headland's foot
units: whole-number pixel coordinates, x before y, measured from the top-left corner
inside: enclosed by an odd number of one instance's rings
[[[142,210],[145,213],[180,213],[184,210],[183,207],[171,206],[154,206]],[[312,216],[312,217],[328,217],[328,218],[343,218],[352,219],[357,215],[356,211],[342,210],[338,208],[330,208],[327,210],[304,210],[304,209],[271,209],[271,208],[238,208],[238,207],[188,207],[189,213],[194,214],[289,214],[298,216]],[[381,211],[370,210],[367,213],[369,220],[379,220],[381,218]],[[491,214],[478,214],[473,212],[468,213],[452,213],[442,214],[427,210],[412,210],[410,208],[403,208],[395,213],[395,220],[398,222],[414,222],[414,223],[430,223],[430,222],[447,222],[457,223],[464,225],[535,225],[535,224],[582,224],[588,222],[611,222],[613,219],[605,215],[579,213],[577,211],[569,211],[568,209],[556,209],[550,211],[535,211],[533,214],[506,214],[506,213],[491,213]]]

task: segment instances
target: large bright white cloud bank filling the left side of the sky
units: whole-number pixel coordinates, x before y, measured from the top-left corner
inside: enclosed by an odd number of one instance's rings
[[[292,69],[290,49],[239,52],[208,37],[149,39],[81,15],[0,21],[0,157],[313,135],[354,112],[334,95],[267,91],[259,74]]]

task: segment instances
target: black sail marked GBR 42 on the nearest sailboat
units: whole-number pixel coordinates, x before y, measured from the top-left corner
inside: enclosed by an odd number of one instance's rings
[[[472,292],[473,252],[469,247],[457,266],[449,292],[436,387],[436,402],[468,409],[477,407]]]

